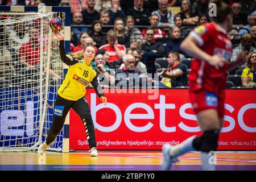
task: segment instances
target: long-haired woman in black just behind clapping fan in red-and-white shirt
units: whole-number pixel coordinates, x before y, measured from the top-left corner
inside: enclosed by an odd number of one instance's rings
[[[117,34],[118,44],[125,45],[126,47],[130,47],[129,36],[125,34],[125,27],[123,25],[122,18],[116,18],[114,22],[114,31]]]

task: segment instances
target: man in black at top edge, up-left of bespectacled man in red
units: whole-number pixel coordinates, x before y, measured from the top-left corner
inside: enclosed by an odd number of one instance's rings
[[[143,9],[144,0],[134,0],[133,9],[127,11],[126,15],[131,15],[135,19],[135,25],[149,25],[148,17],[150,16],[150,11]]]

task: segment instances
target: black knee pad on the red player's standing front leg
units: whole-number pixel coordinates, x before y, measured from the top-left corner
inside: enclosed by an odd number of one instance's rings
[[[201,151],[202,152],[210,152],[216,151],[218,147],[218,135],[219,130],[207,130],[204,131],[203,135],[201,136]]]

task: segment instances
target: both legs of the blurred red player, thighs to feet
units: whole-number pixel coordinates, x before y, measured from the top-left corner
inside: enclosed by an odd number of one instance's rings
[[[210,162],[210,158],[213,156],[209,155],[209,152],[216,151],[217,149],[217,139],[223,119],[218,118],[218,113],[215,109],[201,111],[197,114],[197,119],[203,131],[201,137],[192,136],[176,146],[170,146],[169,144],[163,146],[164,170],[169,170],[175,158],[189,151],[202,151],[201,160],[203,170],[215,169],[214,162]]]

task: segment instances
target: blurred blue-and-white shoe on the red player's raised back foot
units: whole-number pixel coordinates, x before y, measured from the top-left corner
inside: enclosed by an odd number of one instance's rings
[[[162,148],[162,152],[164,155],[162,162],[162,169],[164,171],[169,171],[172,167],[172,163],[179,162],[179,159],[170,156],[171,146],[170,144],[165,144]]]

